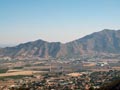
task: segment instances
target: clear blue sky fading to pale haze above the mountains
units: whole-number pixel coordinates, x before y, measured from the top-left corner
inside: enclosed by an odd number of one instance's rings
[[[69,42],[120,29],[120,0],[0,0],[0,44]]]

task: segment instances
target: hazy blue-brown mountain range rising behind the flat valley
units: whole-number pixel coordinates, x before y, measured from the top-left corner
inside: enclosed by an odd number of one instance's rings
[[[68,42],[36,40],[0,48],[0,58],[57,58],[74,55],[120,54],[120,30],[104,29]]]

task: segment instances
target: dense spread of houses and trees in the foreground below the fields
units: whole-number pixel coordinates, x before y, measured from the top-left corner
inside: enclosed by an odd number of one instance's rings
[[[22,79],[0,80],[0,90],[89,90],[120,78],[120,71],[47,73]]]

